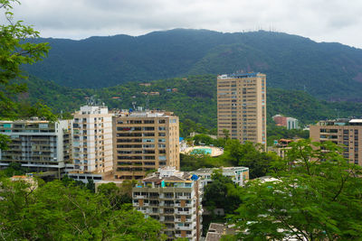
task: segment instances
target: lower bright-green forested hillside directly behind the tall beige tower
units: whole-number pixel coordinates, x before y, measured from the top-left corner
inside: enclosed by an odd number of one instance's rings
[[[160,108],[174,111],[180,120],[190,119],[208,129],[216,127],[216,76],[189,76],[187,78],[160,79],[148,82],[128,82],[110,88],[68,88],[42,79],[26,81],[31,102],[43,100],[56,112],[73,111],[95,96],[110,108]],[[150,92],[154,92],[150,95]],[[24,95],[26,97],[26,95]],[[361,116],[362,104],[328,102],[311,97],[299,90],[267,89],[267,121],[271,116],[283,114],[309,124],[330,117]]]

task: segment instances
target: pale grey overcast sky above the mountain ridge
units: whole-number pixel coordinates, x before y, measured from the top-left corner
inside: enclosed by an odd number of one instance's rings
[[[298,34],[362,48],[360,0],[20,0],[15,19],[43,37],[141,35],[173,28]]]

